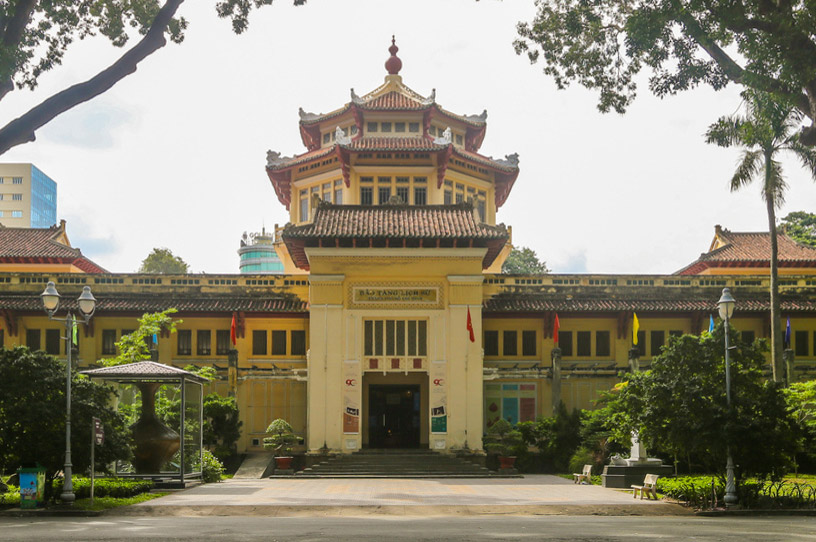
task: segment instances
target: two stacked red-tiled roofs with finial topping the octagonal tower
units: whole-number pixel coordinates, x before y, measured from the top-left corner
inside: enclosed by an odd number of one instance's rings
[[[350,186],[351,155],[369,152],[414,152],[430,153],[436,156],[437,185],[442,186],[445,172],[452,157],[467,166],[475,166],[491,171],[495,175],[496,207],[506,201],[519,174],[518,155],[511,154],[504,159],[494,159],[479,154],[479,148],[487,131],[487,111],[479,115],[458,115],[436,103],[436,90],[427,97],[415,92],[402,82],[399,69],[402,62],[396,57],[397,47],[389,49],[391,58],[386,62],[389,75],[378,88],[364,96],[351,90],[351,101],[329,113],[307,113],[300,109],[300,134],[307,152],[295,156],[281,156],[267,153],[266,171],[278,200],[289,209],[291,203],[292,171],[316,162],[326,164],[327,160],[338,162],[346,186]],[[421,133],[414,137],[367,137],[363,121],[365,112],[406,112],[422,113]],[[430,133],[431,123],[455,126],[464,132],[463,145],[454,145],[444,136],[434,137]],[[346,134],[341,125],[352,123],[355,134]],[[336,128],[336,137],[330,146],[321,147],[321,134],[328,128]]]

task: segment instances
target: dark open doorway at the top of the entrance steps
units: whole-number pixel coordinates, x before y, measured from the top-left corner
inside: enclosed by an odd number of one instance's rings
[[[369,448],[419,448],[419,386],[368,387]]]

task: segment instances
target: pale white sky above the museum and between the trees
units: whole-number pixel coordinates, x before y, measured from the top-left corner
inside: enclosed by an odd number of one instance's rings
[[[671,273],[707,250],[714,225],[767,231],[759,185],[731,194],[739,153],[703,133],[739,106],[736,87],[658,100],[641,85],[626,115],[597,95],[558,91],[513,52],[533,0],[287,0],[236,36],[214,2],[188,1],[183,44],[169,43],[102,96],[59,117],[6,162],[33,162],[58,183],[74,246],[115,272],[168,247],[192,271],[237,273],[244,231],[287,222],[266,151],[302,153],[298,107],[327,112],[383,81],[391,34],[403,81],[460,114],[487,109],[481,152],[518,152],[521,174],[498,220],[555,272]],[[121,54],[75,45],[32,93],[3,100],[5,124]],[[816,209],[807,173],[786,161],[790,211]]]

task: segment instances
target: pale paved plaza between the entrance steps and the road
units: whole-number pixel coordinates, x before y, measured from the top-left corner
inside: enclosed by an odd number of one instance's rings
[[[232,479],[111,511],[116,515],[685,515],[676,504],[576,485],[548,475],[515,479]]]

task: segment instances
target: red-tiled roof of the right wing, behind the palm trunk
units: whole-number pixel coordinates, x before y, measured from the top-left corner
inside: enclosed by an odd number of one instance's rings
[[[816,249],[802,245],[783,233],[777,234],[779,267],[816,267]],[[708,252],[677,271],[677,275],[697,275],[712,268],[770,267],[771,234],[732,232],[717,225]]]

